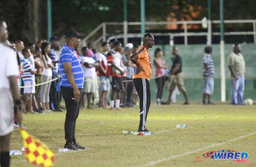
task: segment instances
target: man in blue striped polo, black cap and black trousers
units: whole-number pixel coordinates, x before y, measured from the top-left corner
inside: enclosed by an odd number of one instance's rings
[[[59,72],[61,75],[60,90],[67,109],[65,120],[64,148],[70,150],[86,149],[76,143],[75,126],[79,114],[79,104],[83,89],[83,70],[75,49],[80,45],[81,36],[75,31],[65,34],[66,44],[63,44],[59,55]]]

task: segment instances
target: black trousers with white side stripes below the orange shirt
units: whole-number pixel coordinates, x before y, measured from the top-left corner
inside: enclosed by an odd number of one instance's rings
[[[134,86],[140,98],[140,123],[139,129],[144,130],[146,126],[146,118],[150,109],[150,82],[145,78],[133,79]]]

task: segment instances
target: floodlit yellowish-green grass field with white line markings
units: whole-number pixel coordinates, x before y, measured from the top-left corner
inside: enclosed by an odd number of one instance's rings
[[[124,135],[123,130],[138,129],[138,107],[124,112],[80,110],[76,138],[84,151],[58,153],[65,144],[66,113],[24,115],[27,131],[44,142],[55,154],[54,166],[256,166],[256,106],[217,104],[203,106],[162,105],[152,102],[147,118],[148,136]],[[176,128],[185,124],[187,128]],[[12,134],[11,149],[23,147],[19,130]],[[209,151],[230,149],[248,152],[249,164],[233,160],[203,159]],[[25,153],[14,155],[11,166],[34,166]]]

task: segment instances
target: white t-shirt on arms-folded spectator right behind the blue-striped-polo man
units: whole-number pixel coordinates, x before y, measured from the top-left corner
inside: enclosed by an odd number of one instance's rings
[[[84,63],[93,64],[96,61],[93,58],[81,57],[81,62],[83,64],[82,68],[83,68],[84,78],[93,78],[94,79],[94,77],[96,75],[95,67],[87,68],[86,66],[84,66]]]

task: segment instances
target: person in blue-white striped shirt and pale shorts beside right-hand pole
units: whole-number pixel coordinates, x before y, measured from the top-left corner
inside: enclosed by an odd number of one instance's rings
[[[214,103],[210,102],[210,97],[212,93],[214,93],[214,61],[211,58],[212,47],[206,46],[204,48],[204,52],[206,53],[203,58],[203,80],[204,80],[204,90],[203,90],[203,105]],[[205,102],[206,98],[208,98],[208,102]]]

